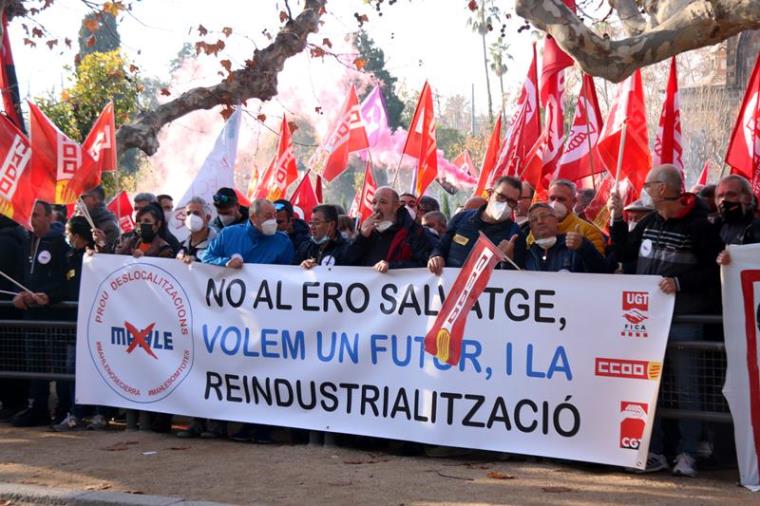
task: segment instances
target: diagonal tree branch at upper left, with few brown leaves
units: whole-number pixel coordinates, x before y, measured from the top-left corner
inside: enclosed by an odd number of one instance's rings
[[[158,150],[157,136],[161,128],[189,112],[239,104],[250,98],[266,101],[277,95],[277,75],[288,58],[304,50],[309,34],[319,29],[325,2],[306,0],[303,11],[285,24],[274,42],[254,52],[252,64],[233,71],[219,84],[193,88],[154,110],[140,113],[133,123],[123,125],[116,133],[118,150],[139,148],[152,155]]]

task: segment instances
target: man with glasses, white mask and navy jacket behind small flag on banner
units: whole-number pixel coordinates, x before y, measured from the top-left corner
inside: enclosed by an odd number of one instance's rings
[[[478,240],[480,232],[517,265],[522,265],[525,258],[525,240],[520,234],[520,227],[512,221],[512,213],[517,208],[521,190],[522,184],[519,179],[504,176],[496,181],[486,205],[480,209],[462,211],[454,216],[449,222],[446,234],[430,255],[430,272],[441,274],[444,267],[461,267]]]

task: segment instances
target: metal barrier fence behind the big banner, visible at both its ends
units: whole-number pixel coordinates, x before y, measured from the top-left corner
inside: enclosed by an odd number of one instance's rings
[[[1,303],[0,308],[7,308]],[[72,310],[76,302],[55,306]],[[665,354],[660,386],[658,414],[668,418],[691,418],[731,423],[728,404],[722,389],[726,377],[726,349],[723,344],[720,316],[679,316],[677,323],[705,325],[705,341],[669,343]],[[0,320],[0,377],[71,380],[74,378],[74,345],[76,323],[70,321]],[[678,407],[679,391],[673,381],[669,357],[687,353],[696,364],[690,386],[697,388],[701,409]]]

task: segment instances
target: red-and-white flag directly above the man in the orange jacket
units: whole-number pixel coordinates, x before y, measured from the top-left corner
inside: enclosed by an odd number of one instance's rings
[[[562,156],[557,162],[557,177],[576,181],[605,171],[604,163],[594,149],[602,131],[602,124],[594,78],[583,74],[573,126],[567,136]]]

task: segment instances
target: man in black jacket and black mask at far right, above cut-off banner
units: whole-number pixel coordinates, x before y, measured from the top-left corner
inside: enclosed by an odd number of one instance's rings
[[[715,226],[723,244],[760,242],[760,220],[755,218],[752,186],[747,179],[734,174],[721,179],[715,192],[715,204],[719,213]],[[721,265],[731,263],[728,250],[723,250],[717,261]]]

